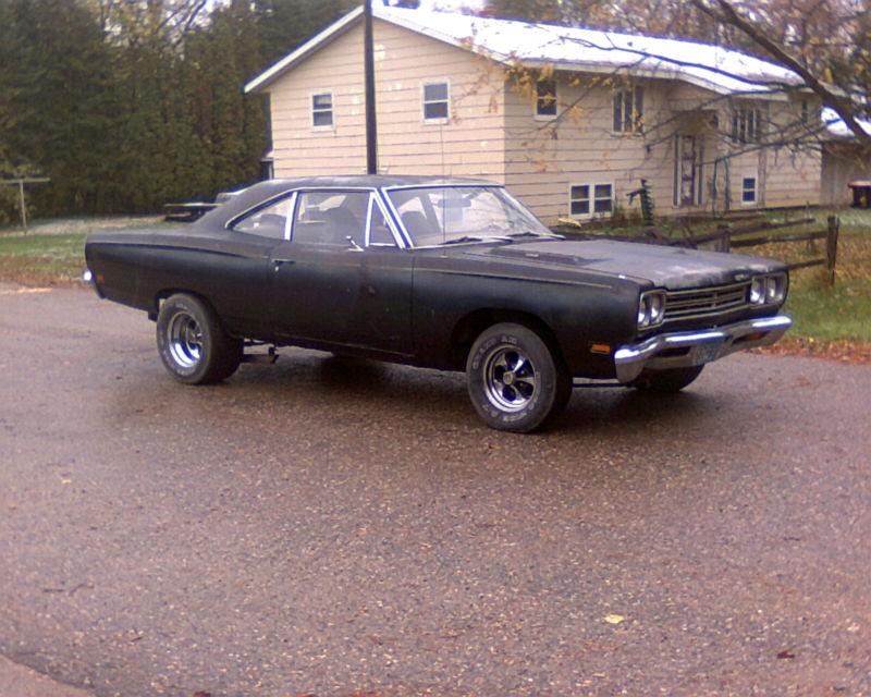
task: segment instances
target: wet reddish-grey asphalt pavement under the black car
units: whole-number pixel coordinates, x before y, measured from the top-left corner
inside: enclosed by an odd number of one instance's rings
[[[459,375],[316,352],[183,387],[152,332],[0,285],[8,661],[123,697],[871,695],[870,368],[736,355],[514,436]]]

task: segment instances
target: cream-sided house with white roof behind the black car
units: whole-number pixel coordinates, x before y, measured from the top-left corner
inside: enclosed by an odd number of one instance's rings
[[[660,215],[820,200],[819,149],[794,145],[819,105],[782,66],[691,41],[373,13],[382,172],[494,180],[548,222],[625,210],[642,179]],[[246,85],[269,98],[275,176],[365,172],[363,33],[359,8]]]

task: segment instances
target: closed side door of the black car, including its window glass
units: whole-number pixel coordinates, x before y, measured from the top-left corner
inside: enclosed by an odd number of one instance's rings
[[[298,192],[292,239],[272,250],[270,302],[277,335],[409,351],[410,261],[392,234],[370,244],[372,210],[387,229],[373,200],[368,191]]]

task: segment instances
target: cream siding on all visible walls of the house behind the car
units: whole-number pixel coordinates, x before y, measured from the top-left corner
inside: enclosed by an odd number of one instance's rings
[[[612,184],[617,210],[637,211],[627,194],[642,179],[658,215],[699,210],[675,206],[675,136],[694,136],[697,187],[710,209],[714,162],[729,151],[732,110],[741,100],[685,83],[643,80],[645,133],[613,132],[613,88],[560,73],[557,102],[577,108],[561,122],[537,120],[535,97],[505,82],[502,69],[470,51],[392,23],[375,22],[379,167],[392,174],[476,176],[505,183],[545,222],[569,215],[573,184]],[[339,36],[267,89],[279,178],[365,171],[363,27]],[[601,78],[600,78],[601,80]],[[422,85],[450,83],[450,119],[425,123]],[[579,83],[579,84],[578,84]],[[624,83],[617,81],[621,86]],[[311,95],[333,95],[332,129],[312,129]],[[800,115],[800,102],[759,105],[775,123]],[[819,203],[820,157],[787,148],[751,150],[716,166],[717,191],[741,208],[741,178],[755,173],[758,206]],[[699,178],[698,174],[701,174]]]

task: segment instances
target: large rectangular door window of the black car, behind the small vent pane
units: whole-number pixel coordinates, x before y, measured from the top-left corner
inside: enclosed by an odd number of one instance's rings
[[[369,192],[300,192],[293,241],[349,247],[366,244]],[[348,240],[351,237],[351,240]]]

